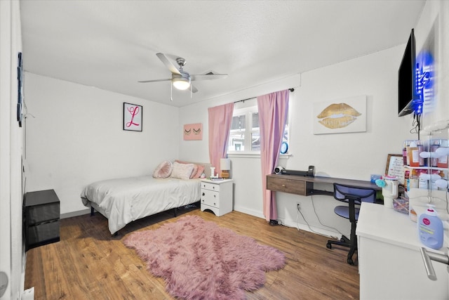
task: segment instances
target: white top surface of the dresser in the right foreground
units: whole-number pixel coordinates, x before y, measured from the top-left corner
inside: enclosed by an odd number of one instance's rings
[[[425,247],[419,240],[417,223],[411,221],[408,214],[402,214],[381,204],[362,202],[358,214],[356,235],[416,251]],[[445,226],[443,247],[439,250],[426,248],[433,252],[444,253],[447,247],[448,230]]]

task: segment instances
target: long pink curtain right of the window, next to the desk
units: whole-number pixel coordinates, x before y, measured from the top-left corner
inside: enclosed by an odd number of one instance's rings
[[[288,115],[289,91],[277,91],[257,97],[260,129],[260,161],[262,163],[262,195],[264,216],[267,221],[276,220],[276,194],[267,190],[267,175],[273,173],[279,158],[283,131]]]

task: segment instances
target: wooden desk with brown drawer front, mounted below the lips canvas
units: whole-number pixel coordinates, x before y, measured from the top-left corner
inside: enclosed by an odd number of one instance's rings
[[[373,188],[373,190],[382,190],[375,183],[370,181],[358,181],[344,178],[333,177],[310,177],[298,175],[267,175],[267,190],[274,190],[276,192],[290,193],[302,196],[311,195],[333,195],[333,191],[316,190],[314,183],[341,183],[344,185],[351,185],[356,188]]]

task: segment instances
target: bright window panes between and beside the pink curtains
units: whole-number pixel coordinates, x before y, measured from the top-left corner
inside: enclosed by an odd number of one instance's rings
[[[283,141],[288,143],[288,118]],[[227,147],[228,153],[260,153],[259,112],[256,99],[234,105],[231,131]]]

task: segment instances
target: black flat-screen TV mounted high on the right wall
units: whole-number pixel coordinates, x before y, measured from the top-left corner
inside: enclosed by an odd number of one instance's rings
[[[420,98],[416,92],[415,32],[412,29],[398,70],[398,116],[417,112]]]

